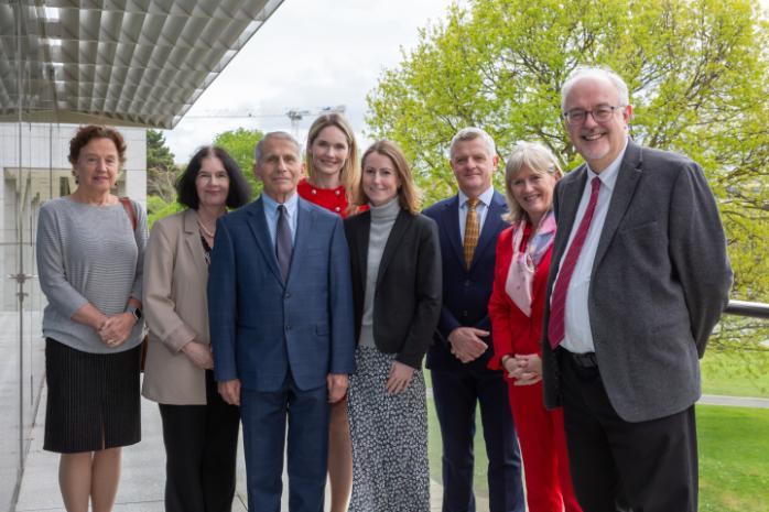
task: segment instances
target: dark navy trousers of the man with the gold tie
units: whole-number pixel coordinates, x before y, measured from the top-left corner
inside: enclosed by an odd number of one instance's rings
[[[523,512],[521,456],[500,372],[432,370],[435,412],[443,439],[443,512],[475,512],[473,439],[480,404],[490,512]]]

